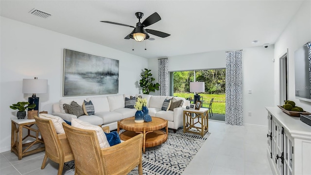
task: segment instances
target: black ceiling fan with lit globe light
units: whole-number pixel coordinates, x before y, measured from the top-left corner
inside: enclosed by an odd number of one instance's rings
[[[101,22],[134,28],[134,30],[129,35],[125,36],[124,39],[132,38],[138,42],[143,41],[144,39],[148,39],[150,37],[148,35],[148,33],[152,34],[152,35],[159,36],[159,37],[167,37],[170,35],[170,34],[166,34],[164,32],[160,32],[160,31],[155,31],[155,30],[151,30],[151,29],[144,29],[144,27],[148,27],[151,24],[154,24],[155,22],[161,20],[161,17],[156,12],[154,14],[150,15],[148,18],[146,18],[143,22],[140,22],[140,19],[144,16],[143,13],[136,12],[135,16],[138,18],[138,23],[136,23],[136,27],[126,25],[126,24],[117,23],[117,22],[111,22],[111,21],[101,21]]]

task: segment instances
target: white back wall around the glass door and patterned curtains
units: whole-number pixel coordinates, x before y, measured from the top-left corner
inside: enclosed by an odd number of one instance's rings
[[[243,119],[245,124],[267,125],[265,106],[272,106],[274,95],[274,58],[273,46],[244,48],[243,66]],[[225,51],[196,53],[168,58],[169,71],[206,70],[225,68]],[[155,81],[158,81],[157,59],[148,60]],[[248,94],[248,89],[252,94]],[[248,116],[252,112],[252,116]]]

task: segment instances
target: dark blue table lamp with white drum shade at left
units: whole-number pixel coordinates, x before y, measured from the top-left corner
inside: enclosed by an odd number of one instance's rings
[[[47,93],[48,92],[48,80],[39,80],[37,77],[35,79],[23,79],[23,93],[30,93],[33,96],[28,98],[29,104],[35,104],[34,110],[39,111],[39,97],[35,94],[37,93]],[[28,110],[32,110],[28,108]]]

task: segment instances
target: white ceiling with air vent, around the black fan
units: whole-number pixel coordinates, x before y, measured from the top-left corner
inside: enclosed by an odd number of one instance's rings
[[[300,0],[1,0],[0,15],[145,58],[237,50],[273,44],[297,12]],[[31,15],[33,8],[49,18]],[[157,12],[162,18],[148,26],[171,34],[136,42],[124,39]],[[253,40],[258,40],[253,44]],[[132,51],[134,47],[134,51]],[[147,50],[145,50],[145,47]]]

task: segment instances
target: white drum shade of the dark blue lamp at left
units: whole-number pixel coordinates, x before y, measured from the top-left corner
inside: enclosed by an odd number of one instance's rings
[[[48,80],[23,79],[23,93],[37,94],[48,92]]]

